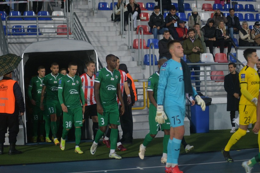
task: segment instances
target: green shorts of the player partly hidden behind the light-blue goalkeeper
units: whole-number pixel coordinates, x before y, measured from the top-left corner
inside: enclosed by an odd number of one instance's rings
[[[169,118],[165,120],[164,124],[158,124],[158,122],[155,121],[156,117],[156,111],[157,109],[153,104],[150,104],[149,106],[149,128],[150,128],[150,135],[156,135],[159,130],[164,130],[164,129],[170,129],[170,120]]]

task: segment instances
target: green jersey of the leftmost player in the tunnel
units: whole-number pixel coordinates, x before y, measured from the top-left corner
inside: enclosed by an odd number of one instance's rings
[[[40,106],[41,93],[42,93],[43,78],[39,76],[33,77],[28,86],[28,96],[30,100],[34,100],[37,106]]]

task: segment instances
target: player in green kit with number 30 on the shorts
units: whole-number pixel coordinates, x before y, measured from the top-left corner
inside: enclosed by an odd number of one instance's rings
[[[69,63],[69,73],[59,81],[58,97],[63,111],[63,132],[60,139],[60,149],[65,149],[65,139],[72,126],[75,126],[76,147],[75,153],[82,154],[79,144],[81,139],[82,115],[85,112],[85,97],[82,82],[76,76],[78,65]]]

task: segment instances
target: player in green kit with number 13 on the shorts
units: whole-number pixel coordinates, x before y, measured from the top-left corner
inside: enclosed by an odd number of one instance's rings
[[[46,92],[47,111],[51,118],[53,142],[55,143],[55,145],[59,145],[60,142],[57,138],[57,129],[59,129],[62,109],[58,98],[58,86],[59,80],[61,77],[63,77],[63,75],[59,73],[59,65],[56,62],[52,63],[51,71],[52,72],[46,75],[42,81],[40,108],[41,110],[44,110],[43,100]]]

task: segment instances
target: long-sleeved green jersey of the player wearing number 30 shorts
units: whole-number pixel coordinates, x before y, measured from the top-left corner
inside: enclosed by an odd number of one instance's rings
[[[85,105],[82,82],[79,76],[70,77],[68,74],[62,76],[59,81],[58,96],[60,104],[65,104],[68,109],[74,109]]]

